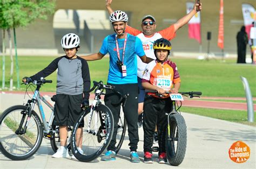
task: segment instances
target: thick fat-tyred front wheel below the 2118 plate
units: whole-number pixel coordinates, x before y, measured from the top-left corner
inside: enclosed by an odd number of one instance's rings
[[[170,115],[165,143],[169,163],[173,166],[180,165],[185,157],[187,146],[187,127],[180,114]]]

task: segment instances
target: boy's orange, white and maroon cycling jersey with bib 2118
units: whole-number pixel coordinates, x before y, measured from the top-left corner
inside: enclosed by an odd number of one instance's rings
[[[170,91],[173,84],[180,81],[178,68],[170,60],[166,60],[163,64],[157,60],[151,61],[146,66],[142,76],[142,82],[149,82],[151,85],[160,87],[165,91]],[[168,97],[169,95],[165,96]]]

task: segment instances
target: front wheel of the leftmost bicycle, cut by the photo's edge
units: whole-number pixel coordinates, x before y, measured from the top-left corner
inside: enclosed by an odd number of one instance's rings
[[[0,150],[12,160],[30,158],[42,143],[42,122],[35,111],[32,111],[26,132],[24,135],[21,133],[28,118],[27,108],[24,105],[14,105],[6,109],[0,117]],[[22,128],[18,130],[21,123]]]

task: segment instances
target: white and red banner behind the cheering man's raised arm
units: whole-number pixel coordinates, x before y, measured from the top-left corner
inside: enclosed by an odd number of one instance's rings
[[[194,2],[186,2],[187,13],[194,8]],[[201,18],[197,12],[188,22],[188,37],[196,39],[201,44]]]

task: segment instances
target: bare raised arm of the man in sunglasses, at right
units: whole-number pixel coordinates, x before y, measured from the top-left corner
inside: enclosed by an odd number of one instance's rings
[[[198,12],[197,11],[197,6],[198,8],[201,10],[202,9],[202,3],[194,4],[194,8],[190,11],[190,13],[187,13],[187,15],[185,15],[184,17],[180,18],[177,23],[173,24],[174,25],[174,31],[176,32],[178,29],[180,29],[180,27],[182,27],[183,25],[187,24],[188,21],[190,21],[190,19]]]

